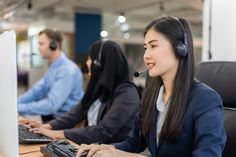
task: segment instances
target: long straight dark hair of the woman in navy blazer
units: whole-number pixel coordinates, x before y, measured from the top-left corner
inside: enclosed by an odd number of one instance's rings
[[[176,42],[184,41],[184,30],[181,28],[180,22],[187,35],[188,54],[185,57],[179,56],[174,48]],[[190,88],[194,80],[192,35],[186,20],[182,18],[176,19],[171,16],[153,20],[146,26],[144,36],[150,29],[163,34],[170,41],[175,51],[175,55],[179,59],[173,93],[169,100],[169,109],[159,135],[160,139],[166,140],[168,143],[175,143],[182,127],[182,120],[187,107]],[[155,130],[155,128],[152,128],[151,126],[153,126],[153,123],[156,123],[154,120],[154,111],[156,110],[156,99],[162,84],[162,79],[159,76],[151,78],[144,93],[144,105],[142,110],[142,132],[144,135],[147,135],[151,130]]]

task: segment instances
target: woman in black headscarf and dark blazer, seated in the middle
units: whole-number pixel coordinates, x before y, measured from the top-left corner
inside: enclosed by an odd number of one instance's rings
[[[123,51],[113,41],[96,41],[86,64],[91,78],[81,103],[47,124],[30,121],[31,131],[77,144],[113,143],[127,137],[134,126],[140,96],[130,81]],[[85,127],[76,128],[83,120]]]

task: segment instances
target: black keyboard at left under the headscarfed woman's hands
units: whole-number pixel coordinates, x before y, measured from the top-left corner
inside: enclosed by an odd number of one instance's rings
[[[29,128],[23,125],[18,125],[18,132],[20,144],[44,144],[52,141],[52,139],[47,136],[30,132]]]

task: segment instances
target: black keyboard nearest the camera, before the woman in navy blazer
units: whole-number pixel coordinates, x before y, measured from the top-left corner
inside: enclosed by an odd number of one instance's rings
[[[78,149],[66,140],[55,140],[45,147],[40,147],[40,151],[45,157],[75,157]],[[86,156],[87,151],[83,152],[80,157]]]

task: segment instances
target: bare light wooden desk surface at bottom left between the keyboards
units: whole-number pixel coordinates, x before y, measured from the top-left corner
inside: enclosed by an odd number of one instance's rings
[[[69,142],[74,146],[78,146],[74,142],[71,142],[71,141]],[[44,157],[44,155],[40,152],[40,147],[42,146],[46,146],[46,144],[20,144],[19,156],[20,157]]]

